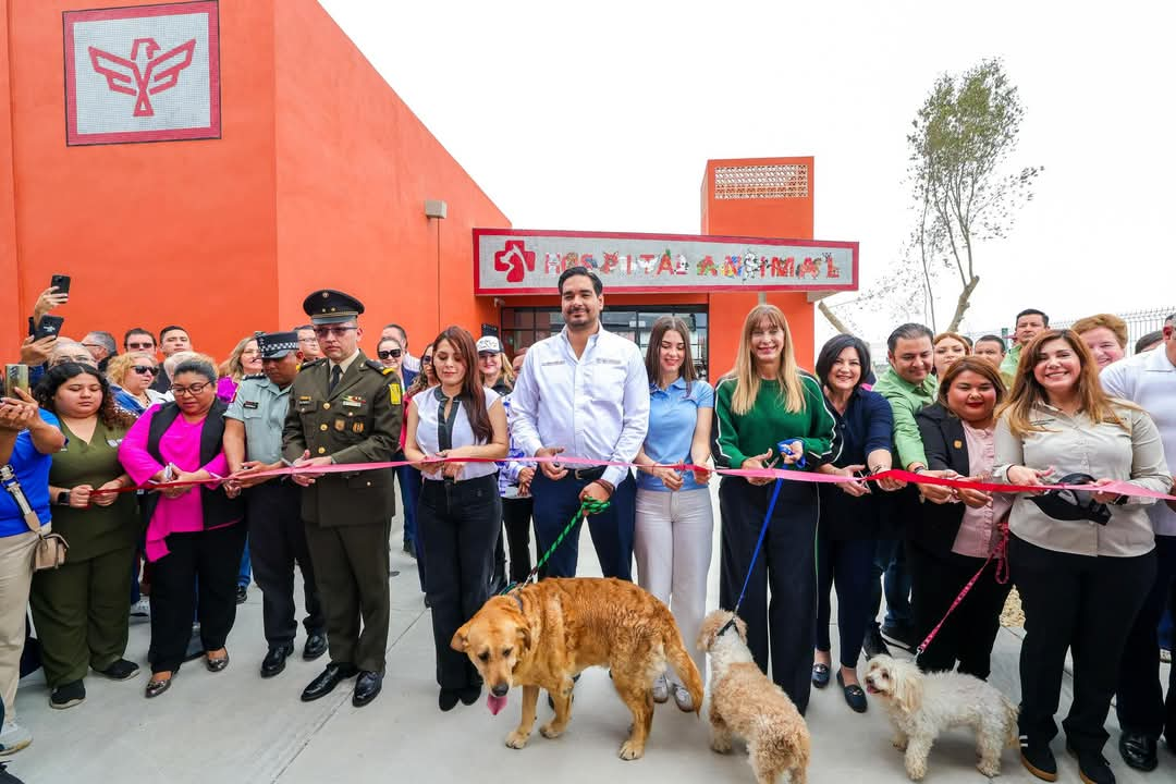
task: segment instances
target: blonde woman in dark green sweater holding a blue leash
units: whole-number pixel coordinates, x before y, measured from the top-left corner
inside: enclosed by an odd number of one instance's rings
[[[715,388],[722,467],[815,470],[833,456],[834,418],[821,383],[796,367],[788,321],[773,304],[747,315],[735,369]],[[720,604],[734,608],[751,569],[760,529],[775,491],[770,477],[726,476],[719,485],[722,520]],[[750,571],[740,615],[755,663],[796,704],[808,708],[816,621],[816,485],[781,482],[771,524]],[[768,590],[771,604],[768,604]]]

